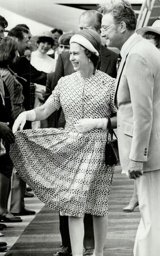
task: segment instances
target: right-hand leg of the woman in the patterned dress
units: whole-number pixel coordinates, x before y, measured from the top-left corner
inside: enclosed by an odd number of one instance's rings
[[[108,216],[93,215],[95,248],[93,256],[103,256],[104,244],[107,236]]]

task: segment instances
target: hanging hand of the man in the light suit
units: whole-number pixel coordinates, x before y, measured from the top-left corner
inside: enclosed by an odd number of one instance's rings
[[[130,160],[128,174],[130,179],[137,179],[143,175],[143,162]]]

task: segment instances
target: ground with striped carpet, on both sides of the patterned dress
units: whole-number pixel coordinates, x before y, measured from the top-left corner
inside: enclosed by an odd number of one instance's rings
[[[109,200],[109,229],[104,256],[133,256],[140,214],[138,207],[131,213],[122,211],[132,196],[133,185],[133,180],[121,175],[120,165],[116,166]],[[37,213],[44,207],[36,197],[25,200],[25,204],[27,208],[34,209]],[[22,223],[6,224],[8,228],[2,231],[4,237],[0,237],[0,241],[6,241],[8,250],[12,248],[10,252],[15,256],[53,255],[61,243],[58,213],[45,207],[37,216],[22,218]],[[12,247],[14,244],[15,246]],[[3,255],[5,253],[0,253],[0,256]]]

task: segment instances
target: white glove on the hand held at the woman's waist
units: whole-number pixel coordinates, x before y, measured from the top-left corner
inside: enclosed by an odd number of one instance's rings
[[[84,118],[77,121],[74,126],[78,132],[87,132],[94,128],[107,129],[107,118]]]

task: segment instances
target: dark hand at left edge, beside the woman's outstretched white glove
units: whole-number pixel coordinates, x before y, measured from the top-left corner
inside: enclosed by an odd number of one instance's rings
[[[15,142],[15,136],[8,125],[9,123],[0,122],[0,138],[9,144],[12,144]]]

